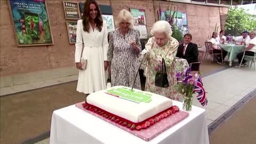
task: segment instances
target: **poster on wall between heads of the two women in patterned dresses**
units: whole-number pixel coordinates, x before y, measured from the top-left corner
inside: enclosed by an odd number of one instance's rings
[[[145,10],[130,9],[133,16],[134,28],[140,31],[140,38],[147,38]]]

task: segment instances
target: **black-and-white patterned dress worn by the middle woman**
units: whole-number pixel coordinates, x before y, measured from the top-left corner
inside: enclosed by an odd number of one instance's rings
[[[135,41],[141,52],[140,34],[129,28],[123,35],[119,29],[110,32],[108,61],[111,61],[111,85],[132,87],[134,78],[139,69],[138,55],[131,46]],[[134,89],[141,90],[139,74],[135,80]]]

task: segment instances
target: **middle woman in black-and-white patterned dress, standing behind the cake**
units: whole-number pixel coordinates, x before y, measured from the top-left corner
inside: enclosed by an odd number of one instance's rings
[[[109,36],[108,61],[111,85],[132,87],[138,70],[137,56],[141,52],[140,34],[133,29],[133,18],[129,11],[122,10],[116,19],[119,28]],[[141,90],[137,76],[134,88]]]

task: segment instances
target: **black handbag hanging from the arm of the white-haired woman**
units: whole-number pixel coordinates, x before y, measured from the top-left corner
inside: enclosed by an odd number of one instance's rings
[[[162,70],[159,71],[159,67],[158,67],[156,77],[155,77],[155,85],[158,87],[169,87],[164,59],[162,59]]]

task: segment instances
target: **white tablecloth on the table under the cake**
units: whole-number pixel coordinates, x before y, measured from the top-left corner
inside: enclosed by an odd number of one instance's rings
[[[182,103],[173,101],[182,109]],[[50,144],[175,143],[208,144],[205,110],[193,106],[189,116],[150,141],[120,129],[75,105],[53,111]]]

